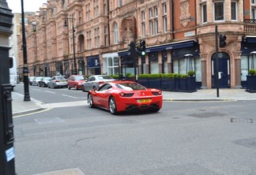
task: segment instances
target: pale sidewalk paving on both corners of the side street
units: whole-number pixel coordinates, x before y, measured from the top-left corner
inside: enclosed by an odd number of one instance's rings
[[[256,100],[256,93],[249,93],[245,89],[219,89],[219,97],[216,89],[199,89],[198,91],[176,92],[163,91],[164,101],[229,101],[229,100]],[[13,116],[28,114],[47,108],[43,103],[32,99],[24,102],[24,95],[12,92]]]

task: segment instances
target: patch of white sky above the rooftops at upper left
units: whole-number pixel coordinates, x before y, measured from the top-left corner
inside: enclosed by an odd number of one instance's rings
[[[12,9],[12,13],[21,13],[21,0],[7,0],[9,9]],[[43,3],[47,3],[47,0],[23,0],[24,12],[36,12],[39,11]]]

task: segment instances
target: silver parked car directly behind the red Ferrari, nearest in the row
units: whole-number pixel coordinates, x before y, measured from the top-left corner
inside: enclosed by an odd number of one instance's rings
[[[98,89],[102,84],[114,80],[114,78],[107,75],[89,76],[88,79],[82,84],[82,91],[90,91],[92,88]]]

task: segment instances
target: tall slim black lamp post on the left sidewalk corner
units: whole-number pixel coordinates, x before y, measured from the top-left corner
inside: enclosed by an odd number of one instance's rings
[[[21,0],[21,20],[22,20],[22,50],[23,50],[23,80],[24,80],[24,101],[30,101],[29,89],[28,89],[28,60],[27,60],[27,45],[26,35],[24,28],[24,6],[23,0]]]

